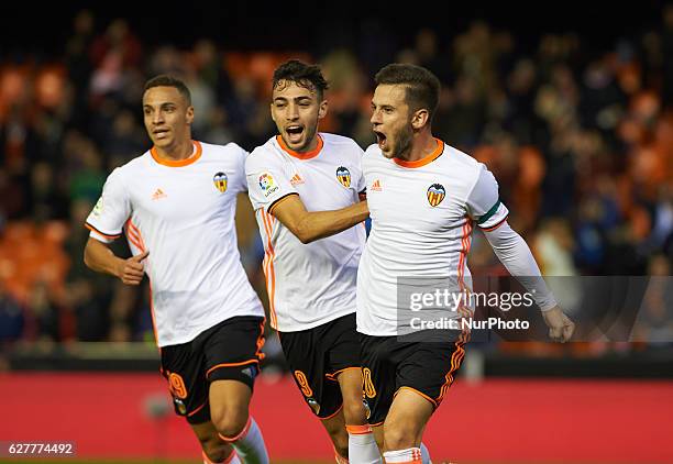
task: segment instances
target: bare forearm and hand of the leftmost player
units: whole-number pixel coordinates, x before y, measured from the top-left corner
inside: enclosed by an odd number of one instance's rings
[[[124,259],[114,255],[106,243],[89,236],[85,246],[84,262],[91,270],[119,277],[126,285],[139,285],[144,275],[143,261],[148,254],[150,252],[145,251]]]

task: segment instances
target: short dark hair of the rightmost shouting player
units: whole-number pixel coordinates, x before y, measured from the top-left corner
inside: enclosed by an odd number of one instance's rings
[[[411,111],[424,108],[430,113],[430,121],[437,111],[441,84],[428,69],[408,64],[394,63],[383,67],[374,81],[380,85],[406,86],[406,100]]]

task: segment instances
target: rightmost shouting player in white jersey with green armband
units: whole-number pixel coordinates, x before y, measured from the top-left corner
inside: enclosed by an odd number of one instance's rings
[[[399,279],[450,275],[465,281],[475,225],[510,274],[534,277],[540,272],[507,223],[494,176],[432,136],[437,77],[419,66],[393,64],[375,80],[371,122],[377,144],[363,159],[372,232],[357,275],[364,391],[385,462],[420,464],[429,461],[420,446],[423,430],[453,383],[465,340],[398,339]],[[537,302],[550,335],[567,341],[574,324],[541,287]]]

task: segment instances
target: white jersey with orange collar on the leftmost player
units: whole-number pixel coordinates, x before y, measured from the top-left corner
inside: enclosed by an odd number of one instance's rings
[[[90,236],[125,233],[133,255],[150,251],[145,273],[159,346],[186,343],[234,316],[264,316],[241,265],[234,214],[246,190],[246,152],[194,142],[184,161],[154,148],[114,169],[87,218]]]

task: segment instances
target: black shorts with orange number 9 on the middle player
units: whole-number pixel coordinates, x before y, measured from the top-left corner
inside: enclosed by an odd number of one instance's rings
[[[336,376],[360,369],[360,335],[355,314],[343,316],[313,329],[278,332],[280,345],[297,386],[313,413],[329,419],[343,398]]]

